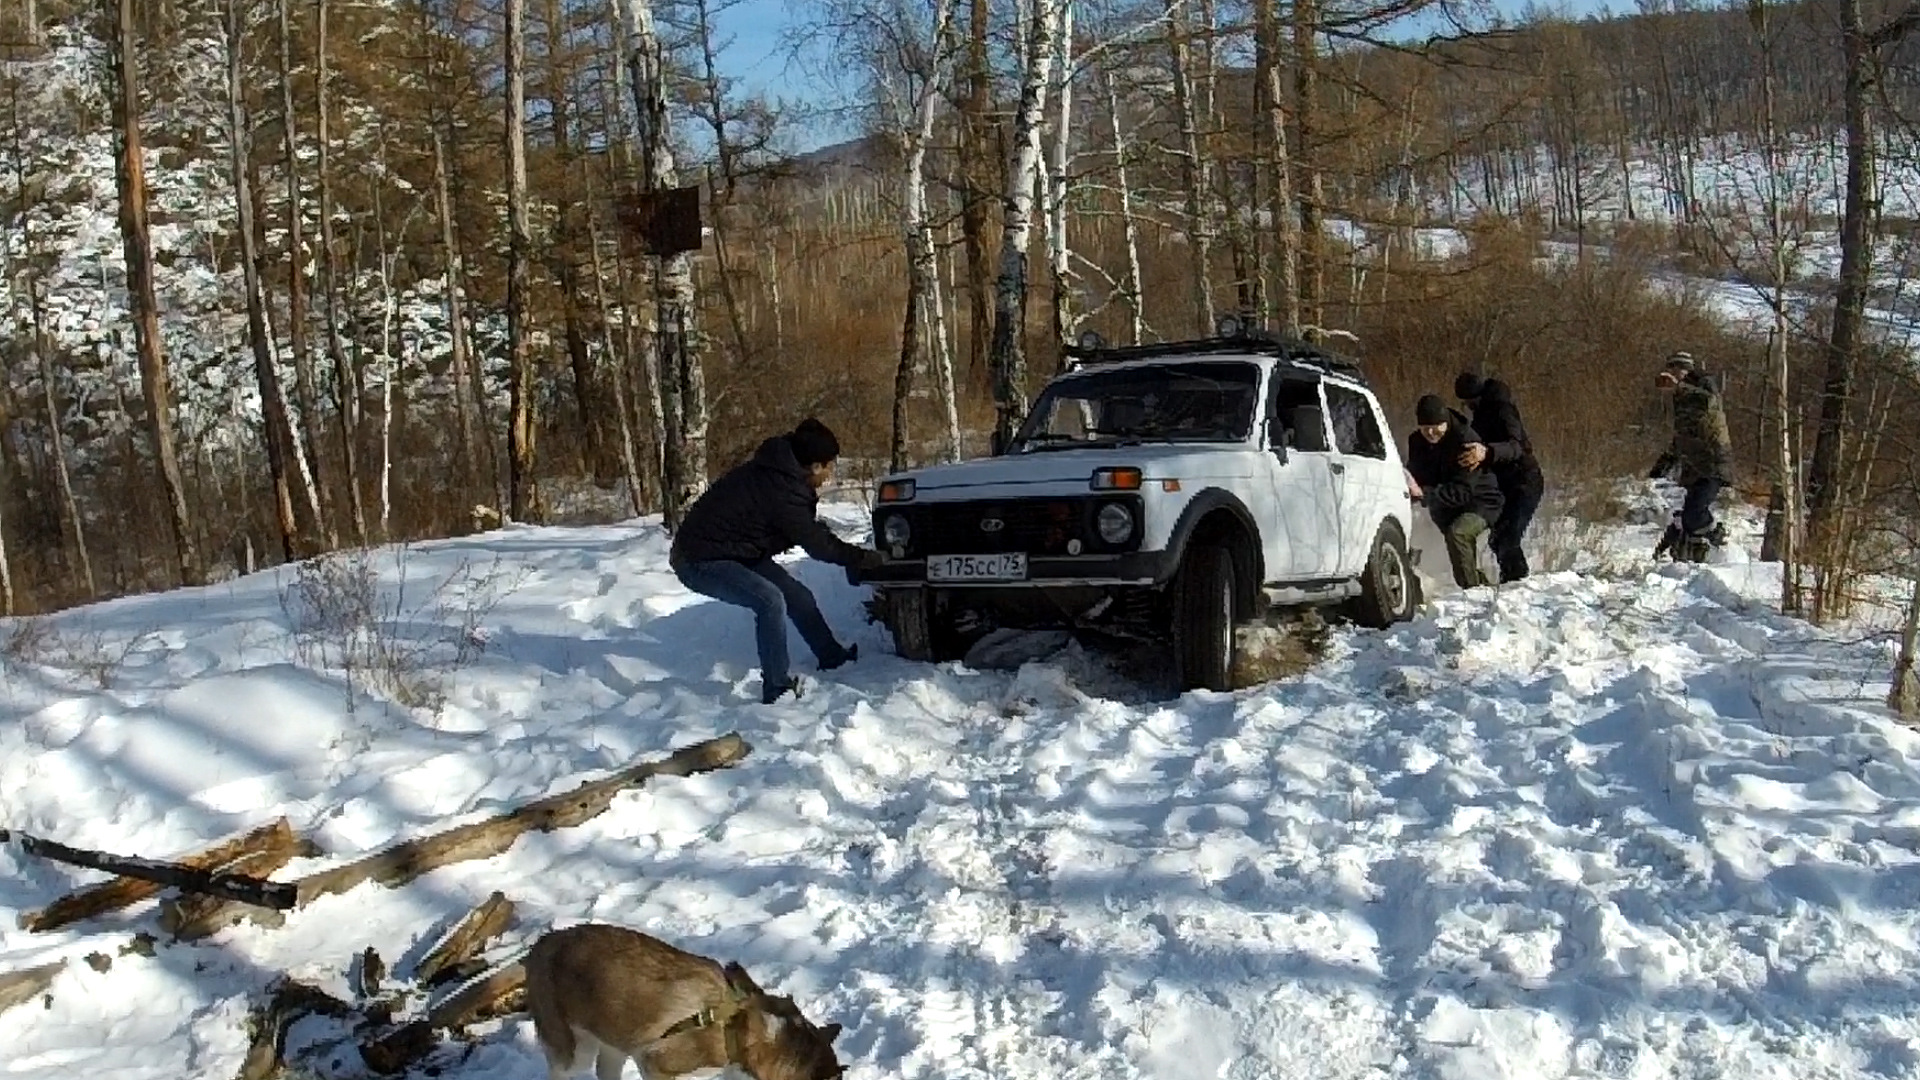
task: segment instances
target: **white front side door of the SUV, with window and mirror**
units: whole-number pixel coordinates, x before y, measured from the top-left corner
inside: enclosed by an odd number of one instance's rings
[[[1283,561],[1267,563],[1275,580],[1338,573],[1340,502],[1319,384],[1315,373],[1281,367],[1267,392],[1267,471],[1277,517],[1271,528],[1284,536]]]

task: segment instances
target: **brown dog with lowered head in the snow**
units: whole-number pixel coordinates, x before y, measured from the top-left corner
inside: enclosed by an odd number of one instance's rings
[[[753,1080],[831,1080],[841,1026],[818,1028],[793,997],[772,995],[737,963],[722,967],[624,926],[586,922],[549,930],[522,961],[547,1078],[564,1080],[593,1059],[599,1080],[626,1061],[641,1080],[703,1068]]]

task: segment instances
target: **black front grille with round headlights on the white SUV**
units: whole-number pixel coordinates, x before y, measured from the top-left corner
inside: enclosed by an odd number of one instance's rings
[[[908,557],[995,555],[1000,552],[1066,555],[1069,540],[1081,542],[1081,553],[1133,550],[1139,544],[1139,528],[1127,544],[1117,548],[1098,540],[1094,515],[1106,502],[1127,502],[1139,515],[1135,498],[1071,496],[885,507],[876,515],[874,525],[877,536],[877,527],[889,513],[906,513],[914,530]],[[998,521],[1000,527],[983,528],[981,523],[987,521]]]

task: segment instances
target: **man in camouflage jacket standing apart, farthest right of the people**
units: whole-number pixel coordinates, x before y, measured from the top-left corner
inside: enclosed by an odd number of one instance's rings
[[[1693,356],[1676,352],[1653,379],[1672,394],[1674,438],[1649,473],[1686,488],[1678,534],[1661,540],[1676,557],[1701,561],[1709,546],[1726,544],[1726,527],[1713,517],[1713,502],[1734,479],[1734,440],[1726,432],[1720,380],[1699,371]]]

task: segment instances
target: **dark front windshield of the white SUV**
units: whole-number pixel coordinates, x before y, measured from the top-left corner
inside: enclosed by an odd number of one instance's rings
[[[1154,363],[1056,379],[1033,404],[1012,452],[1129,442],[1240,442],[1254,429],[1260,365]]]

